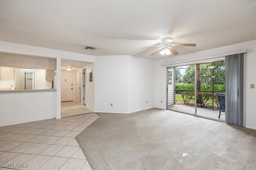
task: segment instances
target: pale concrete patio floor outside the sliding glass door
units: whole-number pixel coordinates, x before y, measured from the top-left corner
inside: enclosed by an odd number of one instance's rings
[[[182,111],[182,112],[190,113],[190,114],[195,113],[195,107],[180,105],[180,104],[168,105],[168,110]],[[197,107],[196,113],[197,113],[197,115],[200,115],[200,116],[209,117],[212,119],[217,119],[217,120],[225,122],[225,112],[221,112],[220,119],[218,119],[218,116],[220,113],[219,110],[212,110],[212,109]]]

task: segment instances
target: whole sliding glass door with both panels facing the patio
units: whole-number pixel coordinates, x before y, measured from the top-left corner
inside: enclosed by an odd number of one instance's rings
[[[225,121],[225,112],[220,111],[217,98],[217,94],[225,93],[224,61],[170,67],[167,70],[167,109]]]

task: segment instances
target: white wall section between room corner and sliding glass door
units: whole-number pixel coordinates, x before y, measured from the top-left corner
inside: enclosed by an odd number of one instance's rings
[[[155,107],[155,62],[140,57],[129,57],[128,112]],[[148,101],[148,103],[146,103]]]

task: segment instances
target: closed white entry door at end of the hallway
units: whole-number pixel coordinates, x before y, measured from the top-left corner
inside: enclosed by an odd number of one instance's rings
[[[73,72],[61,72],[61,102],[73,101]]]

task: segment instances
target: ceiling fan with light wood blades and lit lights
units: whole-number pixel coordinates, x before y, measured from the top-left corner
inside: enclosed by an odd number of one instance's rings
[[[176,51],[174,48],[172,48],[174,46],[196,47],[196,44],[171,44],[172,41],[173,41],[173,39],[170,37],[165,37],[165,38],[161,39],[162,45],[150,46],[150,47],[160,47],[159,49],[157,49],[150,55],[154,55],[158,51],[160,51],[160,54],[162,54],[164,56],[169,55],[170,53],[172,53],[173,55],[177,55],[178,51]],[[143,47],[141,49],[150,48],[150,47]]]

